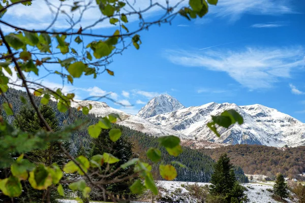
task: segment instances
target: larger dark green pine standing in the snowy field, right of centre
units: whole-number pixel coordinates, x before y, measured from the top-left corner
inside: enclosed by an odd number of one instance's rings
[[[210,194],[220,196],[227,203],[239,203],[247,200],[245,187],[239,185],[235,177],[233,165],[227,154],[222,154],[214,165],[214,174],[211,176]]]

